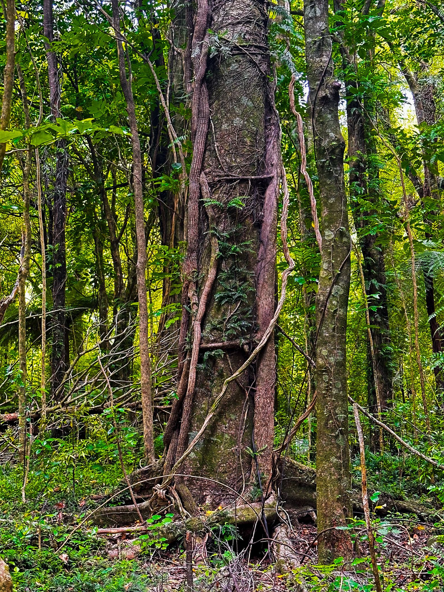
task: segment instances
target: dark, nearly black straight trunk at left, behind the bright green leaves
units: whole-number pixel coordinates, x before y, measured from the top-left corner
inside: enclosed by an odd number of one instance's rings
[[[43,34],[45,41],[46,56],[48,61],[48,79],[50,93],[51,114],[56,120],[61,117],[60,93],[62,91],[59,77],[59,65],[57,56],[52,49],[54,40],[54,21],[52,0],[43,2]],[[62,397],[60,387],[66,371],[66,318],[65,318],[65,285],[66,285],[66,243],[65,243],[65,220],[66,220],[66,184],[67,184],[68,157],[66,152],[66,141],[56,142],[56,175],[54,180],[52,196],[52,292],[53,312],[51,317],[52,328],[52,355],[51,355],[51,393]]]

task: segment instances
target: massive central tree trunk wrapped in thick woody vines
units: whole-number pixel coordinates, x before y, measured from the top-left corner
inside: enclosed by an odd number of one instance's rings
[[[247,359],[274,314],[279,122],[266,52],[266,3],[198,2],[183,69],[193,55],[194,153],[186,210],[184,314],[193,335],[179,369],[178,401],[165,430],[165,473],[200,429],[223,382]],[[186,8],[189,11],[189,7]],[[176,27],[192,23],[179,14]],[[208,57],[208,28],[226,49]],[[174,33],[176,40],[184,34]],[[174,89],[173,89],[174,91]],[[211,121],[210,121],[211,117]],[[210,131],[208,131],[210,130]],[[214,130],[214,131],[213,131]],[[187,313],[186,311],[191,311]],[[185,343],[185,339],[182,339]],[[179,352],[181,343],[179,343]],[[185,484],[211,506],[238,490],[266,488],[272,469],[275,350],[273,336],[256,364],[230,383],[182,472],[217,480]],[[254,425],[254,431],[253,431]],[[253,453],[247,454],[246,448]],[[183,484],[182,484],[183,485]],[[182,488],[183,490],[183,488]]]

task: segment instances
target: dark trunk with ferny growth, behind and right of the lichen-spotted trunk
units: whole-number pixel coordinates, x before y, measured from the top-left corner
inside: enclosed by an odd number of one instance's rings
[[[368,14],[371,2],[365,2],[363,15]],[[335,11],[343,9],[342,3],[334,2]],[[385,0],[377,4],[378,15],[382,15]],[[372,46],[366,54],[366,67],[373,68],[374,36],[369,34],[368,44]],[[387,288],[385,278],[385,252],[378,234],[369,230],[372,217],[380,207],[379,171],[372,165],[372,156],[377,147],[372,136],[372,126],[368,117],[375,112],[375,99],[370,92],[362,96],[349,92],[360,86],[359,71],[352,50],[340,47],[343,69],[346,73],[347,95],[347,127],[349,194],[355,227],[361,246],[363,262],[362,271],[365,278],[366,299],[369,306],[369,334],[367,340],[367,388],[368,404],[373,413],[387,406],[393,397],[392,356],[390,348],[390,325],[388,317]],[[372,346],[370,341],[372,341]],[[373,355],[372,350],[373,349]],[[372,430],[372,445],[379,448],[377,430]]]

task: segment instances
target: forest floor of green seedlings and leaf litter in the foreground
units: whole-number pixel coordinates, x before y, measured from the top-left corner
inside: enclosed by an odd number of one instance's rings
[[[0,556],[11,570],[14,592],[186,592],[183,541],[168,546],[156,530],[99,535],[88,519],[121,482],[118,464],[85,461],[74,475],[59,462],[70,458],[62,452],[55,457],[47,446],[47,462],[43,453],[37,455],[25,503],[22,468],[7,463],[0,470]],[[362,516],[350,530],[360,539],[355,559],[327,566],[317,565],[314,512],[288,509],[288,517],[301,568],[279,572],[266,552],[268,541],[259,541],[263,533],[256,530],[249,546],[248,533],[222,525],[208,537],[206,552],[200,543],[194,553],[194,591],[301,592],[298,580],[308,592],[375,591]],[[372,520],[384,592],[444,590],[441,522],[399,513]]]

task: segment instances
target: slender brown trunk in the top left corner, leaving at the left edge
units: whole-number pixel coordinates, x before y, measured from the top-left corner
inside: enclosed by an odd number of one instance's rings
[[[6,2],[6,64],[3,70],[3,97],[0,130],[7,130],[11,121],[12,89],[15,65],[15,0]],[[0,144],[0,173],[5,159],[6,143]]]

